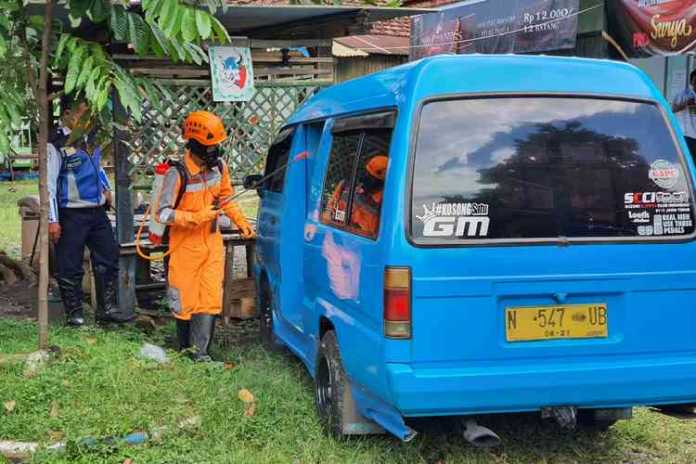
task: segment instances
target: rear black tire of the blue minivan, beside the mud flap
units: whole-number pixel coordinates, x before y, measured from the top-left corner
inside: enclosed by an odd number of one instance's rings
[[[314,385],[314,400],[324,431],[337,439],[346,438],[343,418],[346,417],[345,399],[349,386],[333,331],[326,332],[321,339]]]

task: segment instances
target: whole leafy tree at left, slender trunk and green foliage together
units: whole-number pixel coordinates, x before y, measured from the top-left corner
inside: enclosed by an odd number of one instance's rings
[[[46,145],[50,118],[49,76],[64,76],[66,94],[80,95],[102,123],[112,121],[110,96],[117,94],[136,120],[145,99],[158,104],[164,91],[147,79],[132,76],[116,63],[108,48],[128,44],[138,55],[169,57],[202,64],[207,43],[230,38],[214,14],[226,9],[225,0],[199,1],[68,0],[70,25],[54,20],[54,2],[44,2],[42,16],[31,15],[27,0],[0,0],[0,151],[8,152],[9,136],[23,118],[39,129],[38,151],[41,197],[41,272],[39,275],[39,344],[46,347],[48,292],[48,192]],[[9,66],[5,64],[9,63]],[[108,127],[108,126],[107,126]],[[105,131],[110,133],[110,131]]]

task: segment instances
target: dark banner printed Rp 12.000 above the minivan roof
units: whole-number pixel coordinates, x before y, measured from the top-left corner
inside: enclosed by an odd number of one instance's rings
[[[478,0],[411,19],[411,59],[575,48],[580,0]]]

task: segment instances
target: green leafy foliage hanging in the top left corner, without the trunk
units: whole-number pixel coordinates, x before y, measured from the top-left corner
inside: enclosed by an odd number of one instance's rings
[[[29,117],[38,119],[35,89],[27,82],[27,72],[36,74],[40,35],[45,27],[41,16],[28,16],[20,0],[0,0],[0,59],[11,59],[16,66],[0,71],[9,91],[0,95],[0,152],[10,148],[13,122]],[[173,61],[207,62],[204,44],[226,43],[230,38],[214,16],[225,8],[223,0],[210,0],[207,9],[181,0],[145,0],[141,5],[121,0],[70,0],[72,28],[52,22],[49,73],[65,77],[64,92],[83,96],[95,113],[107,107],[116,91],[131,115],[139,120],[144,99],[159,103],[163,89],[147,79],[138,79],[118,65],[106,46],[126,43],[139,55],[169,57]],[[100,31],[94,38],[78,33],[89,23]],[[33,76],[36,77],[36,76]],[[102,122],[109,118],[102,118]]]

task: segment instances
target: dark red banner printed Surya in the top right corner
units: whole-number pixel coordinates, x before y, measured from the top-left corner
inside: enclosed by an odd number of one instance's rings
[[[609,35],[628,56],[679,55],[694,51],[694,0],[613,0],[606,5]]]

